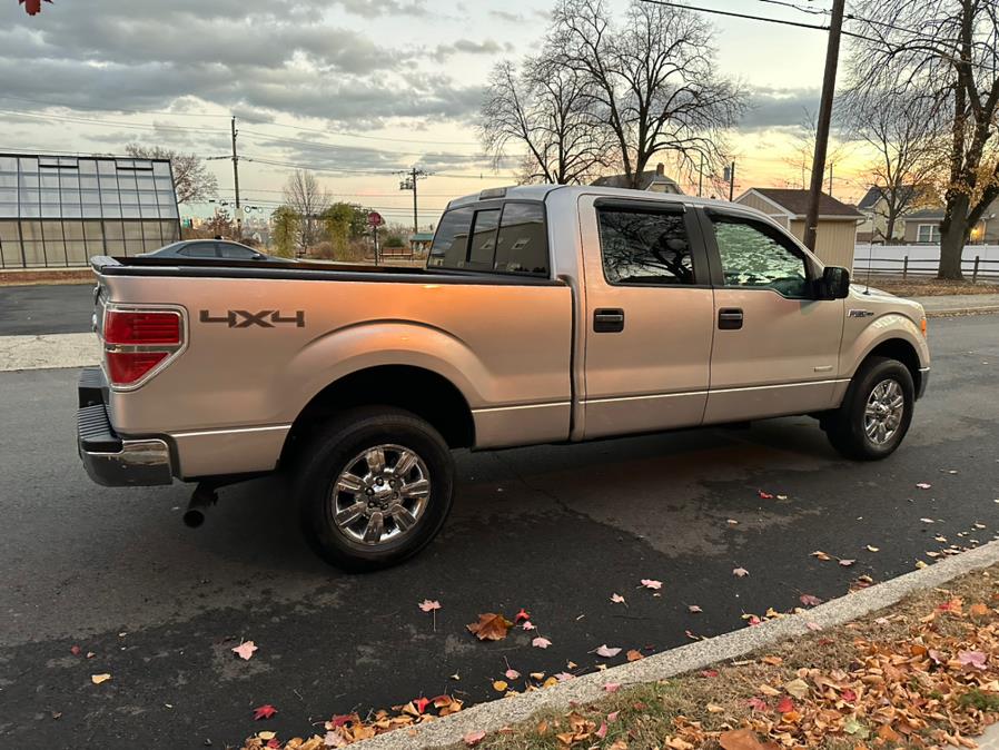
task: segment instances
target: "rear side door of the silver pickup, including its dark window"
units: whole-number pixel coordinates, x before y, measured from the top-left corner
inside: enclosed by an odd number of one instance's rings
[[[583,435],[698,425],[714,303],[696,216],[666,200],[580,198]]]

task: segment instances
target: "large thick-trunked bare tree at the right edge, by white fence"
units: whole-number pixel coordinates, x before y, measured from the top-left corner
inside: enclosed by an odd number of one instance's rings
[[[859,0],[853,87],[918,87],[947,112],[940,278],[961,279],[971,229],[999,197],[999,4],[995,0]]]

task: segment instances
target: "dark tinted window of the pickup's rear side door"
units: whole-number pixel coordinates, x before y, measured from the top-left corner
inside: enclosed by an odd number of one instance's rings
[[[694,283],[694,264],[680,211],[599,208],[604,274],[611,284]]]

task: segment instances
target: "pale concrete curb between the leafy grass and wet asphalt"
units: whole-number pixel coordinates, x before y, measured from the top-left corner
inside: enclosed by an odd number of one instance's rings
[[[607,682],[619,682],[622,685],[654,682],[704,669],[720,661],[738,659],[778,641],[809,633],[808,623],[818,623],[823,628],[840,625],[890,606],[911,593],[939,586],[959,575],[996,563],[999,563],[999,541],[835,599],[803,614],[771,620],[755,628],[744,628],[664,651],[604,672],[585,674],[546,690],[481,703],[446,719],[421,724],[415,730],[399,729],[358,744],[365,750],[413,750],[454,744],[472,731],[494,732],[545,709],[565,710],[572,703],[595,701],[606,694],[603,685]]]

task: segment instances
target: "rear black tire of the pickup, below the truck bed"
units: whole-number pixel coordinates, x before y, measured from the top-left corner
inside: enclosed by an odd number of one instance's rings
[[[368,456],[378,455],[369,450],[378,446],[385,446],[382,463],[388,467],[380,473],[372,472],[368,461]],[[418,463],[406,473],[408,480],[393,478],[392,467],[402,463],[403,455],[396,447],[417,456]],[[393,460],[395,464],[392,464]],[[352,468],[355,471],[349,471]],[[359,473],[364,470],[368,473],[362,477]],[[337,416],[306,444],[295,471],[306,539],[319,556],[346,571],[380,570],[412,557],[436,536],[451,511],[454,493],[451,451],[431,424],[400,408],[370,406]],[[346,480],[352,485],[356,484],[354,480],[363,480],[364,484],[359,485],[362,490],[334,493],[334,486],[344,472],[348,472]],[[423,477],[424,474],[429,485],[419,513],[415,513],[413,503],[418,502],[418,497],[407,500],[403,490],[416,487],[418,480],[413,477]],[[378,478],[382,481],[375,486]],[[389,484],[393,485],[392,490]],[[373,494],[376,490],[378,493],[393,493],[395,489],[399,492],[385,496]],[[346,519],[356,513],[355,509],[363,503],[367,503],[364,509],[367,515],[358,516],[346,526],[335,521],[338,510],[342,511],[340,517]],[[373,503],[376,504],[374,511]],[[398,506],[403,503],[409,503],[406,510],[413,511],[409,517],[415,517],[415,523],[408,529],[397,521]],[[372,524],[375,513],[382,520],[383,534],[394,536],[384,537],[378,543],[356,539],[357,534],[372,530],[368,524]],[[377,522],[374,529],[377,531]]]

